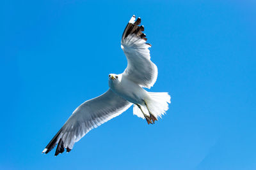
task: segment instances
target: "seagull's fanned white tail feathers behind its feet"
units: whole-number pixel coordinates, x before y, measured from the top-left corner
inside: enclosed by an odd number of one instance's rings
[[[162,115],[168,110],[168,103],[171,103],[171,96],[167,92],[148,92],[145,103],[147,103],[148,109],[146,105],[142,106],[141,109],[146,115],[149,115],[149,110],[154,117],[162,118]],[[143,113],[136,104],[134,104],[133,113],[138,117],[144,118]]]

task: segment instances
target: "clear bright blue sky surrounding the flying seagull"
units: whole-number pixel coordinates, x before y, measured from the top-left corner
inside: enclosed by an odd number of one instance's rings
[[[2,1],[0,169],[256,169],[255,1]],[[145,25],[170,110],[90,131],[70,153],[42,150],[127,61],[120,38]]]

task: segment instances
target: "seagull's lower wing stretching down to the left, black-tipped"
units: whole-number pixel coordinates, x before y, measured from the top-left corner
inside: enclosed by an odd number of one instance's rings
[[[117,96],[111,89],[99,97],[91,99],[81,104],[72,113],[60,131],[52,138],[45,147],[43,153],[48,153],[58,144],[55,155],[72,150],[74,143],[79,141],[91,129],[104,124],[131,106],[120,96]]]

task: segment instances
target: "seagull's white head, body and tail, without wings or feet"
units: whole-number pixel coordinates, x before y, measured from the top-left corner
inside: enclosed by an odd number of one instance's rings
[[[168,110],[170,96],[166,92],[154,93],[147,92],[143,87],[132,81],[124,73],[109,74],[109,88],[117,95],[134,104],[133,113],[140,118],[145,118],[137,104],[146,115],[150,115],[149,110],[154,117],[161,117]],[[147,106],[146,104],[147,103]]]

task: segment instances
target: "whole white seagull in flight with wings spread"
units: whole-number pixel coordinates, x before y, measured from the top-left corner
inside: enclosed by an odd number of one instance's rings
[[[156,82],[157,66],[150,60],[141,18],[133,15],[121,40],[128,64],[122,74],[109,74],[109,90],[99,97],[85,101],[72,113],[60,131],[42,153],[57,146],[55,156],[72,150],[74,144],[93,128],[117,117],[133,104],[133,113],[154,124],[168,110],[171,97],[167,92],[147,92]]]

